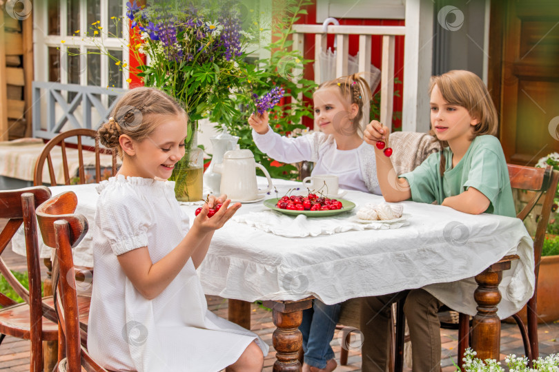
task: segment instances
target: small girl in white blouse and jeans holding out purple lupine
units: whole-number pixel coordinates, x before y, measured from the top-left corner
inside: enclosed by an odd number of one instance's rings
[[[369,84],[360,74],[353,74],[322,83],[313,94],[315,127],[320,132],[296,138],[280,136],[268,125],[267,112],[251,115],[248,123],[257,147],[276,161],[312,161],[311,175],[334,174],[342,189],[380,195],[375,151],[363,141],[360,127],[363,105],[370,100]],[[339,316],[340,304],[326,305],[319,300],[313,300],[313,308],[303,312],[299,327],[303,372],[330,372],[337,366],[330,342]]]

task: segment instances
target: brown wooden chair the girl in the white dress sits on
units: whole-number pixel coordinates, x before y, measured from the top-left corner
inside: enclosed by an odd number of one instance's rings
[[[81,214],[74,214],[76,206],[76,194],[64,192],[37,208],[43,241],[55,249],[52,278],[60,329],[59,371],[106,371],[86,349],[90,297],[77,293],[72,247],[86,235],[88,221]],[[62,351],[66,351],[66,358],[62,358]]]

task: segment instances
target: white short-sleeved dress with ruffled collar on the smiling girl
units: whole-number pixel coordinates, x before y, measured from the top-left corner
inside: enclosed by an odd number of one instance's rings
[[[121,269],[118,255],[147,246],[157,262],[186,235],[188,216],[174,187],[124,176],[97,187],[88,349],[112,371],[220,371],[253,340],[268,353],[255,333],[208,311],[191,259],[153,300],[141,296]]]

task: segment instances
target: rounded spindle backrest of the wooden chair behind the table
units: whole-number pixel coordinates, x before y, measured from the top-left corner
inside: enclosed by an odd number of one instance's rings
[[[99,138],[97,138],[97,132],[95,130],[90,129],[75,129],[75,130],[68,130],[66,132],[62,132],[61,134],[52,138],[48,143],[45,145],[45,148],[41,152],[39,158],[37,158],[37,162],[35,163],[35,175],[33,176],[33,184],[34,185],[42,185],[43,184],[43,167],[45,161],[47,161],[48,165],[48,174],[50,176],[50,185],[56,186],[57,180],[55,176],[55,168],[52,165],[52,158],[50,156],[50,150],[52,150],[55,146],[60,145],[61,152],[62,152],[62,166],[64,172],[64,184],[70,185],[70,180],[72,180],[73,174],[70,174],[69,167],[68,167],[68,155],[66,154],[66,138],[75,137],[77,136],[77,151],[78,151],[78,161],[79,161],[79,180],[78,183],[84,184],[86,183],[86,174],[84,170],[84,146],[82,146],[81,137],[90,137],[95,139],[95,182],[101,182],[101,161],[100,161],[100,154],[107,153],[112,155],[112,176],[115,176],[117,173],[117,152],[112,151],[111,149],[101,149],[99,147]],[[89,147],[86,147],[86,150]]]

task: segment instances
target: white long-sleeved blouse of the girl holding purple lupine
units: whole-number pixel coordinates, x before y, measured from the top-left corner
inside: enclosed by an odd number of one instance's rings
[[[381,195],[377,180],[373,146],[365,141],[351,150],[337,149],[333,136],[314,132],[288,138],[268,127],[266,134],[253,130],[253,139],[260,151],[282,163],[314,162],[311,174],[334,174],[340,188]]]

